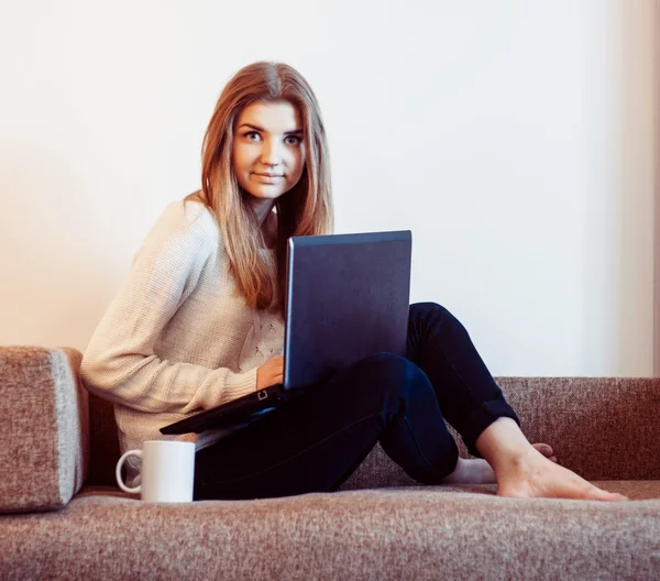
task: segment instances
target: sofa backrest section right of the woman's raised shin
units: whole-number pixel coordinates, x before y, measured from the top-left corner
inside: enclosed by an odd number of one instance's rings
[[[660,479],[659,377],[499,377],[530,441],[586,480]]]

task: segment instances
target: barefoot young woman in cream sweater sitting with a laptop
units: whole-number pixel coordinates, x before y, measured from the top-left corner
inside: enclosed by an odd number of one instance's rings
[[[85,352],[82,379],[114,402],[122,452],[283,381],[287,239],[331,233],[332,212],[311,88],[284,64],[244,67],[210,120],[201,190],[165,208]],[[444,419],[476,459],[459,458]],[[405,358],[378,353],[248,427],[178,439],[196,441],[196,500],[334,491],[377,441],[426,484],[625,500],[527,441],[464,327],[433,303],[410,306]]]

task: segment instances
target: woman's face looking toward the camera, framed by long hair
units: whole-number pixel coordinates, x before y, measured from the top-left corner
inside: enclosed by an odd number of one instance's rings
[[[241,187],[256,198],[275,200],[292,189],[305,167],[297,109],[286,101],[245,107],[234,127],[232,165]]]

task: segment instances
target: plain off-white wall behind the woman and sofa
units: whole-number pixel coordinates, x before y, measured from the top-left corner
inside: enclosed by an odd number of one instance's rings
[[[337,232],[411,229],[413,300],[494,375],[651,375],[653,0],[0,0],[0,343],[84,350],[223,84],[311,83]],[[220,330],[219,330],[220,332]]]

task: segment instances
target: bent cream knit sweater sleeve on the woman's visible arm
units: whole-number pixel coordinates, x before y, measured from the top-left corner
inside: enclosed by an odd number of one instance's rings
[[[188,414],[256,390],[256,369],[212,370],[154,353],[209,257],[213,240],[200,222],[199,211],[173,202],[147,234],[85,350],[80,374],[91,392],[140,412]]]

